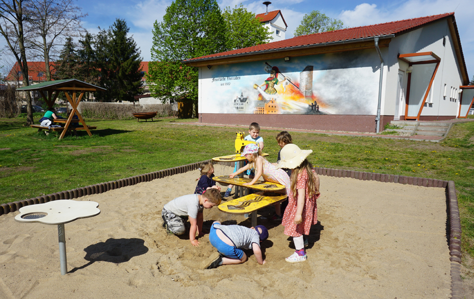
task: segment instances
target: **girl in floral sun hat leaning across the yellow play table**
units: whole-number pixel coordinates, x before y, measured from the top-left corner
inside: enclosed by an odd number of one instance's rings
[[[245,156],[249,161],[249,164],[240,168],[238,171],[229,175],[231,178],[235,177],[236,175],[248,170],[255,168],[255,177],[250,183],[245,183],[244,185],[253,185],[255,182],[260,178],[260,176],[264,177],[264,180],[267,182],[274,182],[279,183],[285,186],[286,194],[289,196],[290,189],[289,189],[289,177],[286,172],[282,169],[277,168],[275,165],[271,164],[266,158],[261,155],[260,148],[256,144],[249,144],[244,148],[241,156]],[[281,204],[277,203],[275,205],[275,214],[278,218],[280,216],[281,219]]]

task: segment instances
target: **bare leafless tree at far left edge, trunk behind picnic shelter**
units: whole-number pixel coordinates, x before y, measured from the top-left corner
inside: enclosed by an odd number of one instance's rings
[[[15,57],[23,76],[23,86],[29,86],[28,62],[25,50],[25,36],[23,23],[28,21],[23,11],[24,0],[0,0],[0,33],[7,42],[8,49]],[[27,124],[33,124],[33,110],[31,95],[27,96]]]

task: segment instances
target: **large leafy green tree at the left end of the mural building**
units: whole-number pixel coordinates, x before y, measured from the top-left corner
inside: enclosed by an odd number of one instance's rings
[[[226,26],[216,0],[175,0],[153,24],[152,61],[146,79],[153,97],[188,98],[197,111],[198,69],[181,61],[226,49]]]

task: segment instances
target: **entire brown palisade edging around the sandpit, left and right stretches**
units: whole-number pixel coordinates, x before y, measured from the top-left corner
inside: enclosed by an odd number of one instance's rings
[[[141,182],[148,182],[154,179],[161,179],[166,176],[175,174],[185,173],[188,171],[196,170],[203,162],[211,161],[216,164],[213,160],[204,160],[192,164],[183,166],[168,168],[160,171],[150,172],[142,175],[119,179],[107,183],[99,183],[86,187],[81,187],[73,190],[62,191],[54,194],[48,194],[41,197],[30,198],[27,200],[20,200],[11,203],[0,205],[0,216],[19,210],[21,207],[45,203],[52,200],[62,199],[75,199],[85,195],[100,194],[109,190],[121,188],[124,186],[135,185]],[[219,162],[218,164],[227,165],[228,162]],[[362,172],[354,170],[342,170],[342,169],[331,169],[315,167],[314,170],[319,175],[338,177],[338,178],[353,178],[359,180],[372,180],[385,183],[399,183],[408,184],[414,186],[424,187],[438,187],[445,188],[447,193],[447,210],[449,216],[449,249],[450,249],[450,261],[451,261],[451,298],[462,299],[463,298],[463,287],[461,280],[461,219],[459,216],[458,197],[456,196],[456,187],[454,181],[444,181],[429,178],[418,178],[409,176],[399,176],[392,174],[373,173],[373,172]]]

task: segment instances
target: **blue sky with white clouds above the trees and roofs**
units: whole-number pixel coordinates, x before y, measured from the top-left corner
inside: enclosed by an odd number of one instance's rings
[[[151,59],[150,48],[155,20],[161,22],[171,0],[81,0],[77,2],[88,16],[83,26],[91,33],[97,27],[109,28],[116,18],[125,19],[130,34],[140,47],[144,61]],[[241,3],[247,10],[257,14],[265,12],[264,1],[218,0],[221,10]],[[288,25],[286,38],[293,32],[301,19],[312,10],[319,10],[331,18],[338,18],[345,26],[355,27],[409,18],[423,17],[446,12],[455,12],[456,23],[461,38],[464,59],[469,79],[474,74],[474,33],[469,19],[474,15],[472,0],[391,0],[391,1],[314,1],[314,0],[271,0],[269,11],[281,10]],[[4,44],[0,40],[0,44]],[[0,58],[2,59],[2,58]],[[3,60],[3,59],[2,59]],[[5,62],[4,62],[5,64]]]

